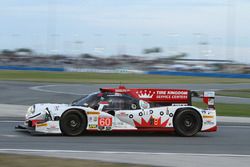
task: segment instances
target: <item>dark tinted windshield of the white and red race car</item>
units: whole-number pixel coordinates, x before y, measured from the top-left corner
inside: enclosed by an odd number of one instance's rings
[[[94,106],[100,99],[101,96],[98,96],[100,92],[95,92],[92,94],[89,94],[87,96],[81,97],[80,99],[77,99],[72,102],[72,106],[88,106],[92,107]]]

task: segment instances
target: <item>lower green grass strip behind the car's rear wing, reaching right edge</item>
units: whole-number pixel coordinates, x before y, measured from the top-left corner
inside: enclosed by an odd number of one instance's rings
[[[193,102],[194,106],[206,108],[202,102]],[[216,113],[219,116],[250,117],[250,104],[215,103]]]

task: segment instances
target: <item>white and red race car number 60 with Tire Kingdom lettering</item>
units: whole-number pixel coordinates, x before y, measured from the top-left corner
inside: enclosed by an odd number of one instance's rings
[[[68,136],[86,131],[175,131],[181,136],[216,131],[215,93],[200,96],[207,109],[192,106],[192,94],[184,89],[101,88],[72,104],[32,105],[24,125],[16,128]]]

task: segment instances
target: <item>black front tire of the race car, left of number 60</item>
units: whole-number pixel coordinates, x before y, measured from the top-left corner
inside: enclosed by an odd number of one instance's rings
[[[86,116],[78,110],[68,110],[60,118],[60,129],[63,135],[81,135],[87,127]]]

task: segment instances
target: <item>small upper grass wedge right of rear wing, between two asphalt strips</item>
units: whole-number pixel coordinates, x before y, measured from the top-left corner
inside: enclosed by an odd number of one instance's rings
[[[220,90],[220,91],[216,91],[216,95],[250,98],[250,89]]]

